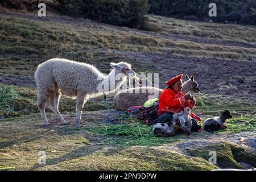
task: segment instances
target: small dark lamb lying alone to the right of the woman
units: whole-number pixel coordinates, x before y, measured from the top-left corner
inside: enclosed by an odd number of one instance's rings
[[[226,119],[232,118],[229,110],[221,111],[220,117],[208,118],[204,121],[204,130],[212,133],[213,131],[217,131],[220,129],[226,129],[226,125],[224,124]]]

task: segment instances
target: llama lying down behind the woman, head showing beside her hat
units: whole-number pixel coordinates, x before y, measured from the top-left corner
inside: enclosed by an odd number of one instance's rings
[[[184,94],[187,94],[190,91],[200,92],[200,88],[197,82],[195,81],[195,77],[191,76],[191,78],[189,78],[188,75],[186,75],[185,77],[187,78],[187,80],[183,83],[182,92]],[[163,89],[159,89],[152,86],[144,86],[122,90],[121,92],[118,92],[115,95],[113,105],[115,107],[115,110],[125,111],[128,107],[141,106],[147,100],[159,97],[162,94],[162,92]],[[154,95],[156,96],[154,97]]]

